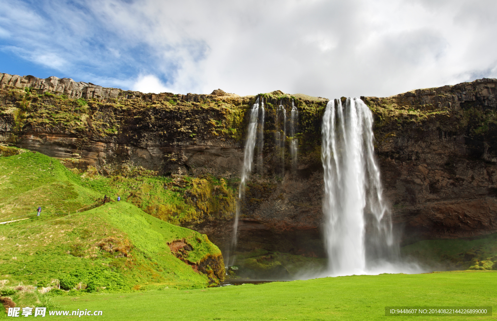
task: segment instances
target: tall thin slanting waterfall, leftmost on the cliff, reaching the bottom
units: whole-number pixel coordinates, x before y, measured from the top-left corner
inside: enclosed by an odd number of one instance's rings
[[[245,183],[248,181],[248,176],[250,175],[250,171],[252,169],[252,160],[254,156],[255,143],[257,138],[257,120],[259,118],[259,110],[262,109],[262,122],[261,128],[264,126],[264,102],[262,98],[262,106],[259,106],[259,97],[255,100],[255,103],[252,105],[250,109],[250,122],[248,123],[248,131],[247,131],[247,141],[245,143],[244,150],[244,165],[242,168],[242,175],[240,177],[240,186],[238,191],[238,202],[237,202],[237,210],[235,214],[235,224],[233,226],[233,239],[231,242],[231,247],[227,250],[226,253],[226,263],[228,265],[234,264],[234,257],[231,258],[230,254],[235,250],[237,246],[237,233],[238,233],[238,220],[240,217],[240,201],[243,199],[245,195]],[[260,134],[263,135],[263,129],[260,130]],[[260,140],[259,150],[262,150],[263,137]]]

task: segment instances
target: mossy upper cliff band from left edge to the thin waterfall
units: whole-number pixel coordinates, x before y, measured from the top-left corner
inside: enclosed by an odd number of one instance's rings
[[[240,140],[240,126],[246,109],[244,103],[247,102],[248,99],[233,97],[223,100],[211,97],[201,102],[179,100],[177,97],[171,97],[168,101],[120,98],[100,102],[71,99],[48,91],[39,95],[16,88],[0,90],[0,112],[14,118],[16,134],[35,130],[75,137],[91,136],[93,139],[129,137],[130,126],[136,132],[150,124],[151,128],[159,129],[160,136],[165,139],[172,137],[171,134],[178,136],[180,132],[184,133],[183,139],[187,141],[195,141],[198,138],[195,136],[199,134]],[[207,123],[210,120],[220,123],[205,128],[206,121],[203,117],[197,117],[199,114],[209,115]],[[177,119],[178,116],[183,119],[179,126],[174,126],[174,122],[163,122],[164,118]]]

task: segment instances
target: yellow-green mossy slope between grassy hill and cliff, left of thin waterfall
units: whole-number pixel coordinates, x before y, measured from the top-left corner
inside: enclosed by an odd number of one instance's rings
[[[231,218],[235,212],[234,189],[223,178],[209,175],[196,178],[178,175],[172,179],[153,175],[147,170],[115,172],[110,177],[89,176],[86,172],[81,180],[84,186],[108,195],[119,195],[122,200],[174,225],[200,223],[214,217]]]

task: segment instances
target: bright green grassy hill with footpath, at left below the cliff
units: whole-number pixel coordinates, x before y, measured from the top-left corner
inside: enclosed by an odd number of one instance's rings
[[[124,201],[76,213],[103,195],[79,185],[80,177],[39,153],[2,157],[0,168],[1,221],[34,216],[38,205],[43,208],[40,217],[0,225],[0,279],[8,279],[7,285],[48,286],[53,279],[70,279],[83,286],[92,283],[100,291],[129,291],[154,284],[207,284],[205,275],[193,272],[166,244],[186,239],[193,247],[187,258],[197,262],[209,253],[220,254],[206,236]],[[124,250],[105,250],[105,243]]]

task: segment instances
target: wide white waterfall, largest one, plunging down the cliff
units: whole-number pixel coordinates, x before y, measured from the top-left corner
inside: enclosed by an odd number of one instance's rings
[[[330,100],[322,135],[329,274],[377,271],[398,246],[374,159],[373,115],[358,98],[347,98],[345,106]]]

